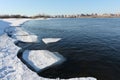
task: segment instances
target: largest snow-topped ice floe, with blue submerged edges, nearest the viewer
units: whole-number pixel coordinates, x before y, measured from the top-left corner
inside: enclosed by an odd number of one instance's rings
[[[26,50],[23,52],[22,57],[36,72],[56,63],[62,63],[65,60],[57,52],[52,53],[47,50]]]

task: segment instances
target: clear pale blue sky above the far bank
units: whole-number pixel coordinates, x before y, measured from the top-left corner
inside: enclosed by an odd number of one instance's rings
[[[0,15],[81,13],[120,13],[120,0],[0,0]]]

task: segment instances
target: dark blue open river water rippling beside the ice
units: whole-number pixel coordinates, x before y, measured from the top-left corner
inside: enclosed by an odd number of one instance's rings
[[[67,60],[42,71],[40,76],[92,76],[98,80],[120,80],[119,18],[33,20],[22,28],[39,37],[38,45],[32,49],[42,49],[42,38],[62,38],[43,49],[57,51]]]

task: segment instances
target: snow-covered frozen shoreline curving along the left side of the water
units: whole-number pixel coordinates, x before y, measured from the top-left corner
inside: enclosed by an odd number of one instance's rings
[[[29,35],[26,32],[21,32],[19,29],[11,33],[13,39],[9,38],[4,30],[10,26],[16,27],[20,26],[26,21],[31,19],[3,19],[1,21],[3,24],[0,24],[2,29],[0,30],[0,79],[2,80],[48,80],[48,78],[42,78],[38,76],[35,72],[27,68],[18,58],[17,51],[20,49],[15,46],[14,41],[21,40],[24,42],[35,42],[32,40],[33,37],[23,36],[23,33]],[[11,31],[14,29],[11,29]],[[15,35],[14,35],[15,34]],[[35,36],[34,36],[35,37]],[[35,37],[37,39],[37,37]],[[29,41],[30,40],[30,41]],[[9,61],[9,64],[8,64]],[[26,77],[27,76],[27,77]],[[54,79],[51,79],[54,80]],[[58,79],[57,79],[58,80]],[[97,80],[92,77],[81,77],[81,78],[71,78],[69,80]]]

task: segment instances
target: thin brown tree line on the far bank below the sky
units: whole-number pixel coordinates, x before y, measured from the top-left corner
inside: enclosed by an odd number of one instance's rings
[[[38,14],[35,16],[25,15],[0,15],[0,18],[81,18],[81,17],[120,17],[120,14],[75,14],[75,15],[45,15]]]

